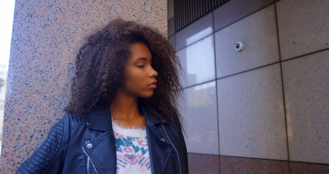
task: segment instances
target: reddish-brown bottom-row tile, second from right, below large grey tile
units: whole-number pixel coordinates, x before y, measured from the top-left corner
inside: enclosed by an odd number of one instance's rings
[[[221,174],[289,174],[288,161],[220,156]]]

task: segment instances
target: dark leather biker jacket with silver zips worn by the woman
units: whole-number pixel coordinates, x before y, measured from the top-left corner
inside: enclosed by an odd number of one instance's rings
[[[173,125],[155,118],[143,106],[141,110],[146,118],[152,174],[188,174],[182,130],[177,131]],[[115,174],[115,140],[108,105],[75,118],[65,114],[16,173]]]

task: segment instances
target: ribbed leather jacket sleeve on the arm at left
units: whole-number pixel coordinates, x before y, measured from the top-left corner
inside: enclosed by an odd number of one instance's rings
[[[51,127],[42,145],[21,164],[16,173],[62,173],[69,142],[69,125],[69,114],[66,113]]]

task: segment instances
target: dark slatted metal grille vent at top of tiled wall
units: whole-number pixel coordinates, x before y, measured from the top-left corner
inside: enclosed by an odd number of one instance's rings
[[[175,0],[175,32],[215,10],[229,0]]]

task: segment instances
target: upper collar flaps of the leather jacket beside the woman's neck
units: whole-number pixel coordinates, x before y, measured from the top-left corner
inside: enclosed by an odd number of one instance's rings
[[[156,118],[152,112],[146,108],[143,104],[140,104],[140,109],[145,116],[146,121],[151,125],[158,123],[166,123],[162,119]],[[95,107],[89,114],[84,122],[84,126],[94,129],[107,131],[112,129],[111,110],[109,104],[104,104]]]

